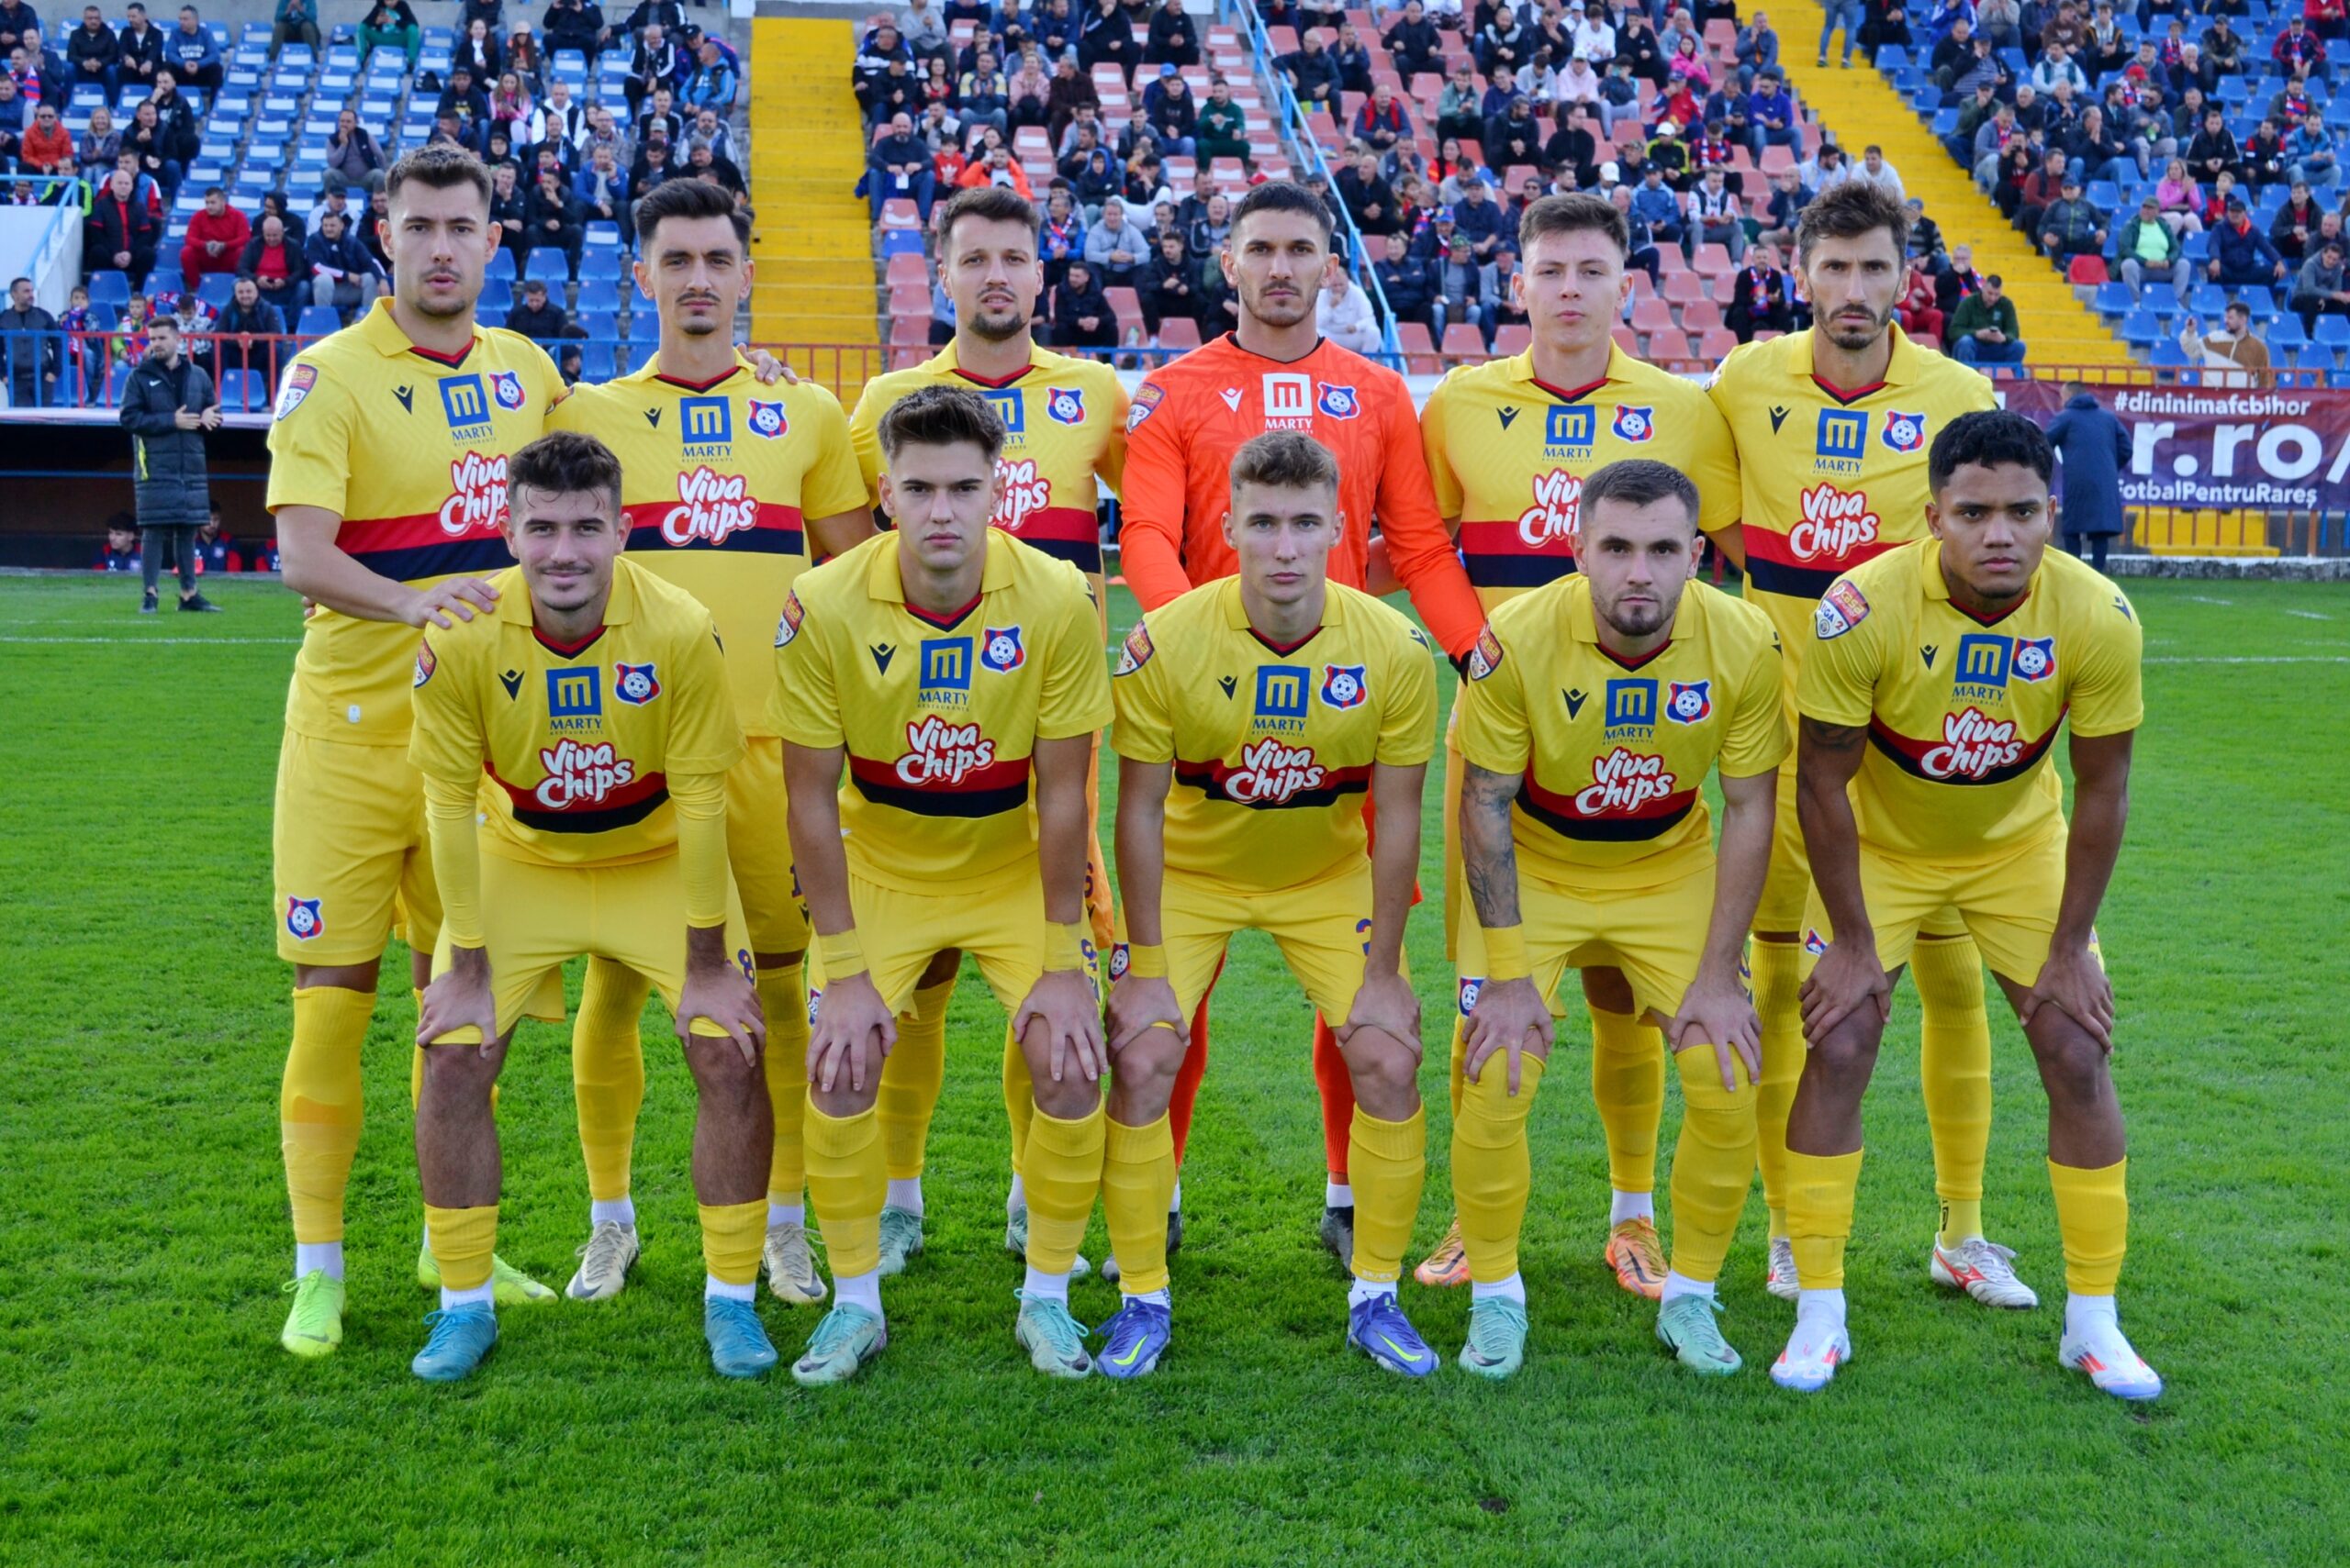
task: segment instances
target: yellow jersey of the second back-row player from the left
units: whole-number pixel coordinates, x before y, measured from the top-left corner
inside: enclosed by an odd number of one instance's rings
[[[576,387],[548,430],[588,432],[620,455],[630,559],[710,606],[743,732],[768,735],[768,638],[808,566],[804,523],[865,505],[841,401],[811,380],[761,387],[743,357],[700,387],[653,357]]]

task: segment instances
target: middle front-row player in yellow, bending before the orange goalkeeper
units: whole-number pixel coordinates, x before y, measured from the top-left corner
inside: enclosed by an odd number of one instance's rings
[[[1224,519],[1238,573],[1152,610],[1119,660],[1126,944],[1109,962],[1121,979],[1109,998],[1102,1209],[1126,1305],[1102,1326],[1112,1378],[1152,1371],[1168,1345],[1168,1099],[1184,1019],[1246,927],[1267,932],[1314,1007],[1342,1021],[1347,1169],[1363,1188],[1347,1343],[1386,1371],[1436,1371],[1396,1303],[1426,1174],[1403,922],[1436,749],[1436,669],[1410,620],[1330,582],[1337,495],[1337,460],[1304,432],[1241,446]]]

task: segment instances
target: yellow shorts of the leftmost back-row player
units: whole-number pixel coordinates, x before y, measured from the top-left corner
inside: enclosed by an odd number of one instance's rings
[[[352,746],[287,730],[277,749],[277,955],[362,965],[400,930],[430,948],[439,890],[425,843],[425,784],[407,746]]]

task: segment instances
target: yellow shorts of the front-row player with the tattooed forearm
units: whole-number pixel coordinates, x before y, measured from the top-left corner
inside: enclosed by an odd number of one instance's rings
[[[1633,1005],[1673,1016],[1697,981],[1713,918],[1713,857],[1657,887],[1565,887],[1518,871],[1518,911],[1535,986],[1549,1000],[1567,969],[1612,967],[1631,981]],[[1466,1019],[1485,984],[1485,932],[1462,925],[1455,962]]]

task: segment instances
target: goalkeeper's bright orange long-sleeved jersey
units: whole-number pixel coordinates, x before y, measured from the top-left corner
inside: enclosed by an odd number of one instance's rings
[[[1368,582],[1370,523],[1396,580],[1443,643],[1464,655],[1485,613],[1419,453],[1419,415],[1403,378],[1330,340],[1304,359],[1253,354],[1224,333],[1152,371],[1126,415],[1121,568],[1144,610],[1238,570],[1224,545],[1231,455],[1267,430],[1302,430],[1337,455],[1344,535],[1330,580]]]

